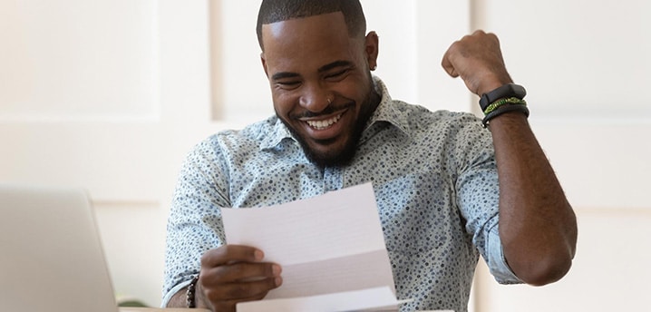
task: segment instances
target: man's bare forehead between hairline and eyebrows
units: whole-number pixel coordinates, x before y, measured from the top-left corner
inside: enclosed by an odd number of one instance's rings
[[[267,63],[351,58],[357,44],[341,12],[262,25]]]

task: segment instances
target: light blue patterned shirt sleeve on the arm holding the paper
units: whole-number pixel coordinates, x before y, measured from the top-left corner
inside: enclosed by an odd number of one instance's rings
[[[184,161],[167,225],[162,303],[199,273],[200,258],[226,239],[220,207],[229,207],[226,176],[216,138],[199,143]]]

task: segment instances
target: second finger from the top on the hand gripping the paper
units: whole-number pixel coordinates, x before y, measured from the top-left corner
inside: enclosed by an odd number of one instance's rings
[[[204,285],[215,286],[219,284],[238,281],[250,281],[261,278],[279,277],[280,266],[268,262],[238,262],[219,267],[206,268],[201,271]]]

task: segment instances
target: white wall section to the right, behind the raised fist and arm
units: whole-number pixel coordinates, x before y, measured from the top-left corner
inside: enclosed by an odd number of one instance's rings
[[[574,266],[543,288],[478,283],[482,311],[647,310],[651,3],[475,1],[578,214]]]

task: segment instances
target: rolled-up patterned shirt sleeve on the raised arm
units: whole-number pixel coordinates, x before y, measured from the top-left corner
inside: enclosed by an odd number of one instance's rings
[[[457,163],[457,201],[466,231],[480,251],[491,275],[500,284],[521,283],[504,258],[499,231],[500,187],[491,135],[479,122],[466,127],[456,145],[456,155],[465,155]]]

